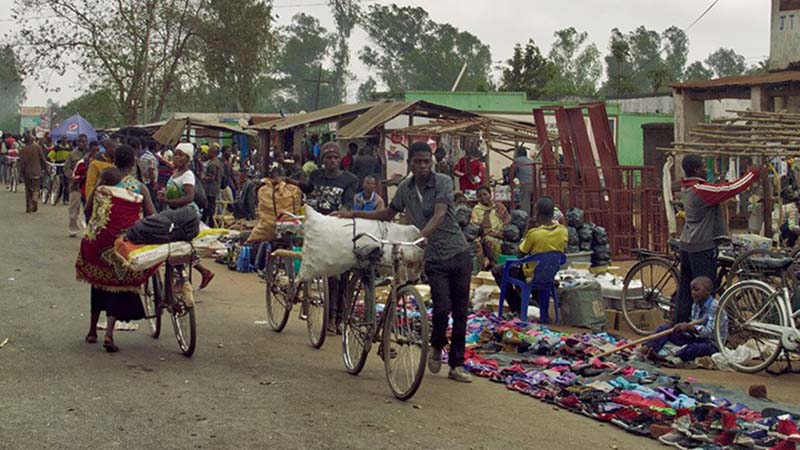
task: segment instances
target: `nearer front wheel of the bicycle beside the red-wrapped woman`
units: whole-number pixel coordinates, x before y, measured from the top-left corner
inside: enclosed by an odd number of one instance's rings
[[[184,277],[183,270],[178,267],[168,268],[167,271],[173,272],[174,279],[168,278],[169,282],[165,285],[172,291],[172,301],[169,302],[168,309],[175,339],[183,355],[189,357],[197,345],[197,322],[194,317],[194,299],[191,298],[192,283]]]

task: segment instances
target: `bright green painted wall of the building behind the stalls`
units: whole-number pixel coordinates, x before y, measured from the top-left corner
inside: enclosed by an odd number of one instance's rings
[[[533,121],[532,111],[548,105],[575,106],[574,103],[527,100],[524,92],[444,92],[409,91],[405,101],[426,100],[439,105],[483,114],[523,114]],[[666,114],[624,114],[619,105],[606,103],[609,118],[617,118],[617,153],[622,165],[639,166],[644,162],[644,135],[646,123],[673,122]]]

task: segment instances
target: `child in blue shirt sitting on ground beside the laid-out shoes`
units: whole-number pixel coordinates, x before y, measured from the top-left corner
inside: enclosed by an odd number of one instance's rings
[[[693,361],[701,356],[711,356],[718,352],[715,344],[715,327],[717,316],[717,299],[714,298],[714,283],[711,278],[697,277],[692,280],[692,316],[691,321],[702,321],[699,325],[693,323],[680,323],[675,326],[675,330],[660,338],[654,339],[645,344],[642,354],[656,361],[668,361],[674,365],[680,362]],[[669,330],[671,325],[664,324],[656,329],[656,333]],[[728,317],[722,316],[720,324],[720,337],[725,341],[728,337]],[[674,358],[664,358],[659,355],[659,351],[664,345],[670,342],[674,345],[682,346],[675,354]]]

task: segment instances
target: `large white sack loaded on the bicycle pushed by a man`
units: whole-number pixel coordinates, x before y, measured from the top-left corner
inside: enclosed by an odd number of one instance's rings
[[[353,228],[355,226],[355,232]],[[300,265],[300,280],[317,277],[332,277],[350,270],[356,264],[353,253],[353,236],[371,233],[389,241],[411,242],[419,238],[419,229],[413,225],[400,225],[366,219],[342,219],[325,216],[306,206],[306,222],[303,236],[303,262]],[[359,246],[376,246],[368,238],[362,238]],[[422,261],[422,250],[418,247],[400,247],[405,261]],[[386,246],[383,262],[392,263],[392,249]]]

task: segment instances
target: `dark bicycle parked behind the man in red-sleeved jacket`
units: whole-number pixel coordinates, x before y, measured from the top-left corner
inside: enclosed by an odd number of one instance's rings
[[[669,255],[649,250],[635,250],[639,262],[628,273],[622,284],[621,306],[622,316],[630,328],[637,334],[646,335],[655,328],[645,328],[633,320],[632,312],[637,310],[656,310],[660,313],[660,322],[671,323],[673,303],[680,287],[680,250],[678,240],[669,240]],[[763,279],[766,274],[759,272],[752,261],[769,255],[769,250],[746,250],[741,245],[730,244],[720,248],[717,255],[717,291],[721,295],[739,279]]]

